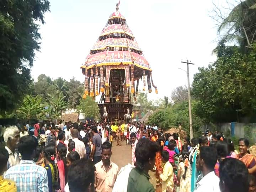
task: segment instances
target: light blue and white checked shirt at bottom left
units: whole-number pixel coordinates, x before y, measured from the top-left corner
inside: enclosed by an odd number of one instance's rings
[[[17,191],[49,192],[46,169],[32,160],[21,160],[6,171],[5,178],[15,181]]]

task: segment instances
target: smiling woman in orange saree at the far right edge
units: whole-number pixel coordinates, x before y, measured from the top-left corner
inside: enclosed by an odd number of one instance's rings
[[[244,162],[249,174],[256,176],[256,157],[248,151],[249,140],[246,138],[240,138],[238,142],[238,159]]]

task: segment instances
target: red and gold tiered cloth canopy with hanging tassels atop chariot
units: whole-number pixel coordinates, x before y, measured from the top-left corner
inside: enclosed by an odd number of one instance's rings
[[[128,73],[126,74],[126,85],[130,86],[131,80],[131,93],[134,92],[134,81],[138,81],[140,78],[145,81],[145,76],[148,76],[149,92],[151,92],[152,69],[136,42],[132,31],[129,29],[126,19],[119,12],[118,5],[116,12],[113,12],[108,18],[106,26],[101,31],[97,42],[91,48],[81,68],[82,73],[86,75],[85,95],[88,95],[88,89],[90,89],[90,85],[86,87],[89,77],[91,79],[95,78],[95,76],[96,78],[101,78],[105,85],[101,82],[103,85],[100,86],[108,86],[108,74],[111,69],[126,70],[126,73]],[[93,81],[91,81],[92,84]],[[153,81],[152,84],[156,88]],[[104,91],[103,87],[101,91]]]

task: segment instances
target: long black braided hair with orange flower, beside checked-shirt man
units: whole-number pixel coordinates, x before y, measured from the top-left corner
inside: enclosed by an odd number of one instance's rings
[[[53,188],[57,188],[58,186],[58,168],[55,165],[56,151],[55,146],[47,145],[44,148],[44,158],[47,159],[53,165]]]

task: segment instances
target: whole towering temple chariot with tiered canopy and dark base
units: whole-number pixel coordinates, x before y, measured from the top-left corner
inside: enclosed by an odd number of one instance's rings
[[[143,91],[147,82],[149,93],[151,84],[158,93],[152,69],[119,12],[118,4],[81,69],[85,75],[83,98],[101,95],[98,106],[102,121],[130,121],[132,97],[137,100],[139,81],[143,83]]]

